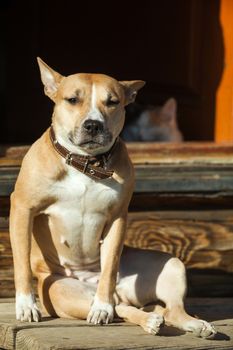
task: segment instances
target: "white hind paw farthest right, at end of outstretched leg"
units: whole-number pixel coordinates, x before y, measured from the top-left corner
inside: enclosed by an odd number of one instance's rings
[[[214,326],[204,320],[192,320],[185,323],[183,329],[196,337],[213,338],[217,333]]]

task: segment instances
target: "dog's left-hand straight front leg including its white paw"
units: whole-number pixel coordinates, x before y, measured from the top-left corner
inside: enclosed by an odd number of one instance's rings
[[[14,194],[11,196],[10,239],[14,259],[16,288],[16,318],[20,321],[40,321],[32,292],[32,273],[30,267],[31,232],[33,214],[24,208]]]

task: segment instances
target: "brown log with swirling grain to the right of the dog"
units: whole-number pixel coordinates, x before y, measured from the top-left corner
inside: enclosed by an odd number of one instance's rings
[[[223,217],[229,220],[225,223],[219,215],[198,211],[130,213],[126,244],[171,253],[188,268],[233,272],[232,212],[223,211]]]

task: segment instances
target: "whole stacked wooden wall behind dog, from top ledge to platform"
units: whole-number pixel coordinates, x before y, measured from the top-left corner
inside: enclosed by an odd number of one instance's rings
[[[0,157],[0,296],[13,290],[9,194],[27,148]],[[189,295],[233,295],[233,146],[130,144],[136,185],[126,244],[178,256]]]

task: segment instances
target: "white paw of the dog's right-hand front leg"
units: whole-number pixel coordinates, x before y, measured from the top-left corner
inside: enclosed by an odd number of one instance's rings
[[[95,297],[91,310],[87,316],[87,322],[93,324],[110,323],[114,318],[114,308],[112,304],[104,303]]]

